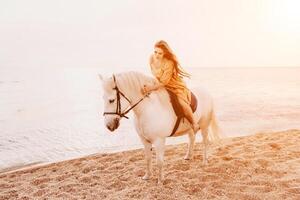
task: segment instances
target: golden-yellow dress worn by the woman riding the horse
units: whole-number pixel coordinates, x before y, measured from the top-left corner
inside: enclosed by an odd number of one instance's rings
[[[176,73],[173,62],[167,60],[163,62],[160,67],[155,67],[152,62],[153,60],[150,59],[151,71],[156,79],[163,84],[167,90],[175,93],[177,97],[190,104],[191,92],[183,79]]]

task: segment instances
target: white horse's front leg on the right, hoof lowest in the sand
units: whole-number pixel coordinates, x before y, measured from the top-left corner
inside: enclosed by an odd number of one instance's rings
[[[165,154],[165,138],[158,138],[154,142],[155,152],[156,152],[156,163],[158,167],[158,184],[162,184],[164,179],[163,176],[163,164],[164,164],[164,154]]]

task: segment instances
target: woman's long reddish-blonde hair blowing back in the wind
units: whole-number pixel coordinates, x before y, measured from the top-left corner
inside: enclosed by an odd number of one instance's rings
[[[171,50],[170,46],[168,45],[168,43],[166,41],[160,40],[160,41],[156,42],[154,46],[162,49],[164,52],[164,58],[171,60],[174,63],[176,73],[179,76],[185,76],[187,78],[191,77],[191,75],[189,73],[187,73],[184,69],[182,69],[182,67],[180,66],[180,64],[178,62],[176,55],[173,53],[173,51]]]

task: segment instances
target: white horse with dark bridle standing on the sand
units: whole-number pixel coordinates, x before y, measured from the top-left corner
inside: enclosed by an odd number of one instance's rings
[[[133,110],[135,116],[136,131],[144,145],[147,170],[144,180],[151,176],[152,145],[156,151],[156,162],[158,166],[158,183],[163,180],[163,161],[165,151],[165,140],[170,136],[177,116],[170,102],[166,89],[162,88],[144,96],[141,92],[144,85],[155,83],[156,79],[150,78],[138,72],[125,72],[110,78],[103,78],[104,99],[104,122],[110,131],[119,127],[122,117]],[[218,125],[214,113],[211,96],[200,88],[192,90],[198,100],[197,110],[194,116],[200,125],[204,152],[203,164],[207,164],[208,137],[218,140]],[[208,132],[209,126],[212,131]],[[188,134],[189,145],[184,159],[191,159],[193,154],[195,135],[188,120],[180,123],[173,136]]]

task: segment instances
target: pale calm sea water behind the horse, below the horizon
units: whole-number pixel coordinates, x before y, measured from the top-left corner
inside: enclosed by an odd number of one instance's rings
[[[101,71],[0,69],[0,169],[142,147],[131,119],[104,128]],[[300,68],[190,71],[188,84],[213,95],[224,135],[300,128]]]

